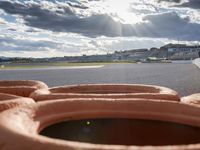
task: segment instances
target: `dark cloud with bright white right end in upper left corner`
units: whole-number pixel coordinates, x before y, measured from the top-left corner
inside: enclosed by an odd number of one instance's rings
[[[61,3],[62,4],[62,3]],[[12,1],[0,1],[0,8],[5,12],[14,15],[21,15],[25,19],[27,17],[56,17],[56,15],[66,13],[68,15],[73,15],[73,9],[71,4],[69,6],[66,4],[59,5],[48,1],[35,2],[29,1],[29,3],[19,3]]]

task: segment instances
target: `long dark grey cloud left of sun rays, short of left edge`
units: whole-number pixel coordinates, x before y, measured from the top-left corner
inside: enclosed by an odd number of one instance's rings
[[[96,36],[128,36],[133,32],[131,25],[114,21],[108,15],[91,15],[80,18],[75,15],[69,17],[26,18],[27,25],[58,32],[79,33],[89,37]],[[129,32],[131,30],[131,32]]]

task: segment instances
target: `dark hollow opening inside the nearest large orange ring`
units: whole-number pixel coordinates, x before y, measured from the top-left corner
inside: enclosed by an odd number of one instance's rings
[[[41,135],[69,141],[115,145],[179,145],[200,142],[200,128],[139,119],[66,121],[45,128]]]

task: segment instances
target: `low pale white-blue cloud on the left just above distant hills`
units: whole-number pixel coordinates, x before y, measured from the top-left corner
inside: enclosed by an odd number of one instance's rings
[[[61,38],[62,39],[62,38]],[[98,51],[98,48],[89,44],[87,41],[79,43],[72,43],[60,41],[61,39],[55,40],[45,40],[37,38],[24,38],[24,37],[15,37],[15,35],[0,35],[0,52],[12,52],[12,53],[45,53],[45,56],[51,56],[53,53],[56,55],[56,52],[59,56],[64,55],[77,55],[83,54],[92,50],[94,53]],[[58,42],[59,41],[59,42]],[[98,51],[99,52],[99,51]],[[92,54],[92,52],[91,52]],[[31,56],[31,55],[30,55]],[[32,56],[31,56],[32,57]],[[41,56],[43,57],[43,54]],[[52,56],[53,57],[53,56]]]

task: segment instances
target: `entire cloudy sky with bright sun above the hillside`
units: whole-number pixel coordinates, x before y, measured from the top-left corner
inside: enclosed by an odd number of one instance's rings
[[[0,56],[199,44],[200,0],[0,0]]]

